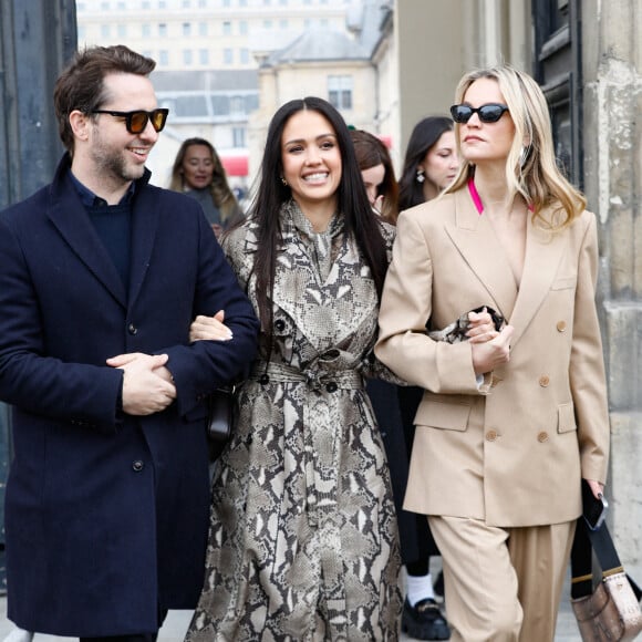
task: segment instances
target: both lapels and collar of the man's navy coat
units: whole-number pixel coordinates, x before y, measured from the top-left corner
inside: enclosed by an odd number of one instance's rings
[[[125,286],[112,258],[101,241],[71,177],[71,158],[65,154],[60,162],[50,186],[48,216],[72,251],[110,291],[113,298],[127,308],[127,286]],[[157,226],[157,204],[155,197],[145,189],[151,173],[136,182],[132,203],[132,259],[130,269],[130,304],[135,300],[154,246]]]

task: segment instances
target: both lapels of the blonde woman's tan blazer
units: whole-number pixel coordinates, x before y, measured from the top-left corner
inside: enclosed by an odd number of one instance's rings
[[[550,210],[545,209],[542,216],[550,220]],[[534,222],[529,213],[526,257],[518,289],[504,249],[488,219],[477,211],[468,189],[455,193],[455,222],[446,224],[446,232],[488,291],[488,304],[496,307],[515,328],[510,340],[511,345],[515,345],[550,289],[567,235],[545,229]]]

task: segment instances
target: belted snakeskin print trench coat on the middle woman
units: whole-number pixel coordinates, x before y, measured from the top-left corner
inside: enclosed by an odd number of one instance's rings
[[[186,640],[394,641],[397,527],[363,381],[387,372],[372,359],[374,282],[343,217],[315,234],[293,201],[280,216],[272,352],[267,363],[261,334],[217,460],[205,587]],[[386,225],[389,250],[393,234]],[[255,309],[258,242],[251,221],[224,242]]]

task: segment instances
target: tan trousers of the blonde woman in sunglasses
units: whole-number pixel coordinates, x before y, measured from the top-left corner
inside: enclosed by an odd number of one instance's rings
[[[574,521],[497,528],[429,516],[451,642],[552,642]]]

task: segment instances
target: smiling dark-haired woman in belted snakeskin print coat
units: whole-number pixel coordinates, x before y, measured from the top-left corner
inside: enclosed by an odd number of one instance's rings
[[[186,640],[394,641],[394,505],[364,376],[393,228],[372,214],[340,114],[283,105],[248,219],[224,249],[259,359],[217,460],[206,580]],[[194,339],[214,339],[199,318]]]

